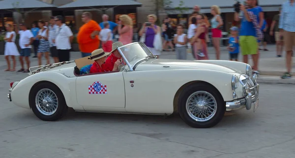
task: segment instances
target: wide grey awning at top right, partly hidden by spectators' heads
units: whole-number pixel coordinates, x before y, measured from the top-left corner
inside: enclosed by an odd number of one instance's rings
[[[201,13],[210,13],[210,7],[212,5],[218,5],[222,13],[234,12],[233,5],[235,0],[182,0],[183,6],[188,8],[185,11],[177,10],[181,0],[170,0],[171,4],[165,8],[167,14],[191,14],[195,5],[201,7]],[[243,2],[244,0],[239,0]],[[264,11],[279,11],[279,7],[282,4],[282,0],[259,0],[259,5],[262,6]]]

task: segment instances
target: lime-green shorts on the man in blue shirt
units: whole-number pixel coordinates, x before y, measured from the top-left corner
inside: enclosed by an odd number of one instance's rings
[[[254,55],[258,52],[258,43],[255,36],[241,35],[239,36],[239,45],[242,55]]]

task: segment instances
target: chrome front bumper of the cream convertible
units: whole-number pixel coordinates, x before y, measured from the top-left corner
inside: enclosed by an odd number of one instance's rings
[[[245,98],[239,98],[233,101],[226,102],[227,109],[236,109],[243,105],[246,106],[247,110],[251,109],[252,103],[255,102],[259,97],[259,84],[249,89],[249,92]]]

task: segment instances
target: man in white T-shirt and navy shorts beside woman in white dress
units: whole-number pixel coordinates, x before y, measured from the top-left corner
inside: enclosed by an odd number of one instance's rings
[[[16,32],[20,34],[20,39],[19,39],[19,45],[21,47],[21,52],[20,52],[20,63],[22,68],[18,70],[17,72],[29,72],[29,56],[31,54],[31,44],[34,41],[34,35],[31,31],[28,30],[28,28],[25,26],[25,24],[20,24],[20,29],[21,31],[18,31],[18,26],[16,27]],[[24,60],[23,58],[25,57],[27,67],[28,69],[25,70],[24,67]]]

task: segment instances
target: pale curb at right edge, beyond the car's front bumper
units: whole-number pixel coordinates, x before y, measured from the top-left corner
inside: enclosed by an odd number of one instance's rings
[[[295,85],[295,78],[281,79],[280,76],[265,76],[260,75],[257,79],[258,83],[268,84],[291,84]]]

